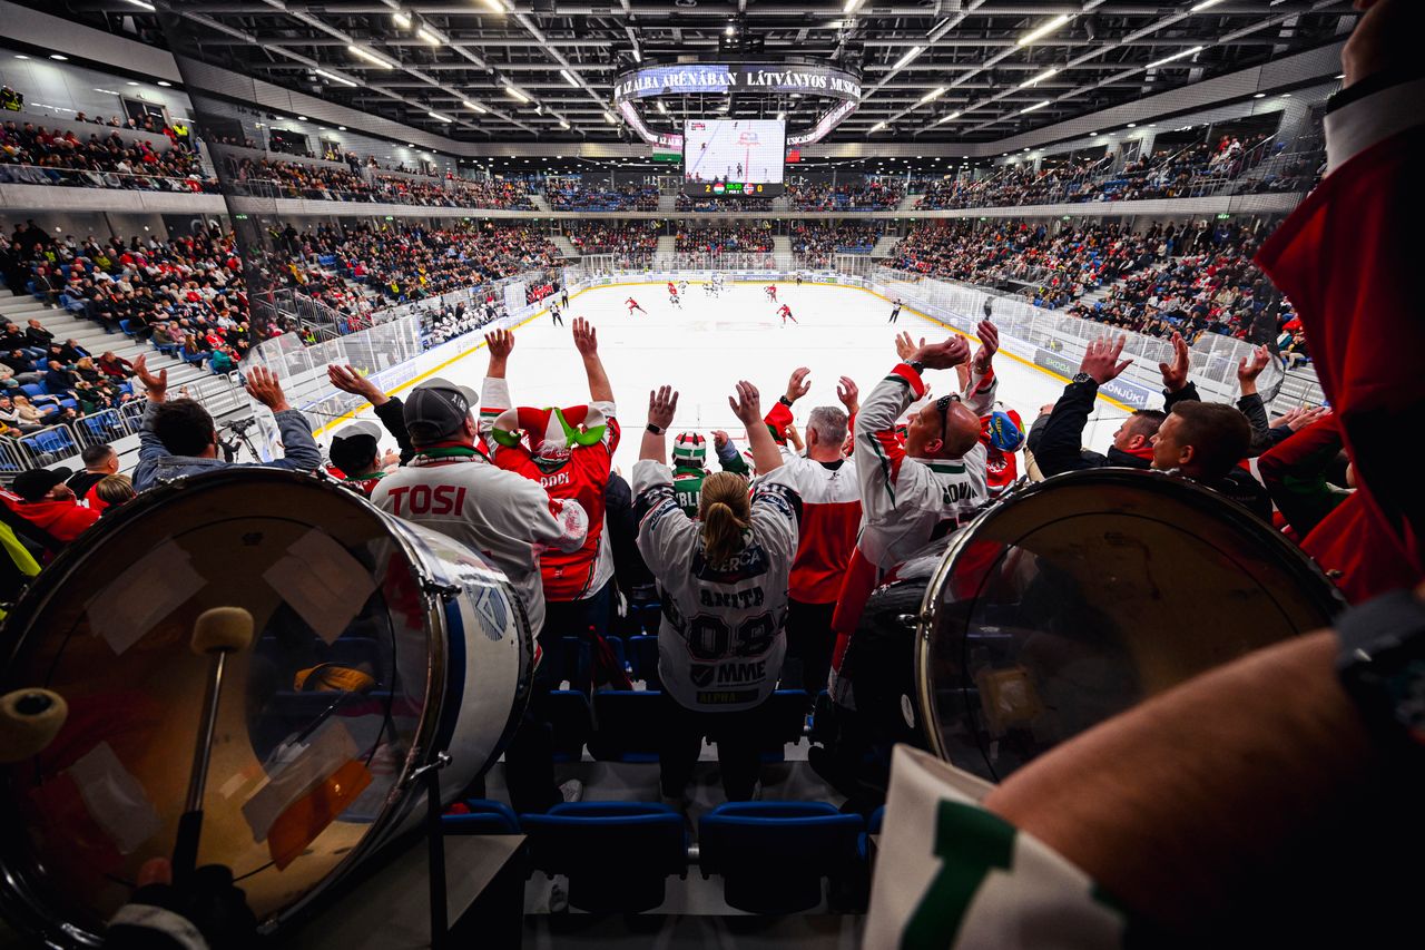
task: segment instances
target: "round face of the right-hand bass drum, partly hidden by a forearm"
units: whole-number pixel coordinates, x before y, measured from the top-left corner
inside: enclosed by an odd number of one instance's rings
[[[1245,509],[1181,478],[1040,482],[950,541],[922,611],[921,719],[998,782],[1197,673],[1330,625],[1330,581]]]

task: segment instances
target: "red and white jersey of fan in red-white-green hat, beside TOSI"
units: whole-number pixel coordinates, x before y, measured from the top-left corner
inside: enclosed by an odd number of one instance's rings
[[[517,472],[549,492],[550,498],[570,499],[589,514],[589,536],[573,552],[549,552],[540,559],[544,596],[549,601],[579,601],[597,593],[614,573],[614,556],[604,532],[604,489],[618,448],[618,421],[613,402],[593,402],[607,419],[604,438],[596,445],[576,445],[569,461],[550,471],[534,462],[522,444],[506,446],[490,438],[493,421],[513,408],[504,379],[484,381],[480,389],[480,435],[490,448],[490,461],[507,472]]]

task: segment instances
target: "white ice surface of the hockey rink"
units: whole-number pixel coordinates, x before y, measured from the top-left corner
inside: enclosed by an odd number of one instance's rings
[[[680,394],[674,434],[697,431],[710,436],[712,429],[724,429],[745,448],[742,425],[727,404],[735,381],[755,384],[765,411],[785,392],[791,371],[809,367],[811,392],[794,411],[801,424],[812,407],[838,404],[839,377],[855,379],[862,397],[885,378],[898,361],[896,331],[909,331],[918,339],[943,339],[952,332],[909,307],[901,311],[895,325],[889,325],[891,302],[855,287],[778,284],[778,304],[767,300],[764,287],[765,282],[728,282],[721,297],[714,298],[703,292],[700,282],[690,281],[681,308],[668,302],[664,281],[618,282],[580,291],[570,298],[563,327],[553,324],[544,311],[519,325],[507,374],[510,394],[517,405],[587,402],[589,388],[570,324],[574,317],[590,320],[598,331],[598,352],[624,425],[614,462],[628,474],[638,458],[638,436],[654,387],[671,385]],[[630,297],[647,314],[628,315],[624,301]],[[788,321],[782,327],[777,317],[781,302],[791,305],[798,322]],[[484,367],[484,344],[480,342],[432,375],[479,391]],[[1042,405],[1059,398],[1066,382],[1016,358],[1013,341],[1006,341],[995,368],[1000,402],[1017,409],[1026,428]],[[953,371],[926,371],[926,381],[932,392],[946,392],[956,385]],[[1084,431],[1084,444],[1099,451],[1107,448],[1124,415],[1124,408],[1100,398]],[[323,442],[329,439],[331,431],[322,435]]]

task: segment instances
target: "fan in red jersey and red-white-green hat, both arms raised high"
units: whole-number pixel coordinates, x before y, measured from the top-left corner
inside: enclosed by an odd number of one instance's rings
[[[589,514],[584,545],[570,553],[550,552],[540,562],[549,601],[546,650],[557,650],[564,636],[584,636],[590,629],[604,636],[613,616],[614,558],[604,533],[604,492],[620,428],[593,325],[580,317],[570,330],[584,364],[589,404],[569,408],[514,408],[504,379],[514,335],[497,330],[484,338],[490,365],[480,429],[492,461],[544,486],[550,498],[579,502]],[[576,683],[576,689],[587,686]]]

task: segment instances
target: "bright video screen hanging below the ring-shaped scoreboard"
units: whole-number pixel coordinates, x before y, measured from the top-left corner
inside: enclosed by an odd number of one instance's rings
[[[690,118],[683,127],[683,193],[694,198],[782,194],[787,123]]]

